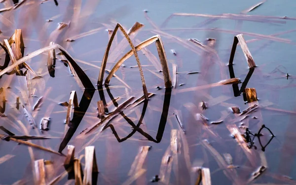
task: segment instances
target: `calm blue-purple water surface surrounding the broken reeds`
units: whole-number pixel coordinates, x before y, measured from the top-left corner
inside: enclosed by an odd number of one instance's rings
[[[76,0],[79,4],[79,0]],[[135,39],[134,43],[139,43],[152,37],[156,34],[156,30],[149,24],[143,12],[148,10],[148,16],[155,25],[159,28],[167,17],[172,13],[199,13],[199,14],[222,14],[234,13],[239,14],[244,9],[258,3],[256,0],[236,1],[236,0],[199,0],[199,1],[115,1],[102,0],[98,3],[92,1],[82,1],[82,9],[80,16],[82,17],[77,22],[74,9],[74,1],[69,0],[59,1],[59,6],[56,7],[51,1],[46,1],[43,4],[37,2],[32,4],[25,4],[18,9],[9,12],[1,13],[4,17],[11,21],[12,26],[1,24],[2,34],[1,39],[9,38],[14,29],[22,29],[25,42],[25,55],[29,54],[41,47],[47,46],[49,41],[54,41],[64,48],[72,55],[77,64],[85,70],[93,85],[97,83],[99,68],[104,56],[105,48],[108,43],[108,32],[106,29],[113,29],[115,22],[120,23],[126,29],[133,26],[135,22],[140,22],[145,25]],[[3,6],[4,7],[4,6]],[[77,5],[77,7],[79,7]],[[83,9],[85,7],[85,9]],[[250,15],[264,15],[264,16],[288,16],[296,17],[296,2],[291,0],[269,0],[266,1],[259,8]],[[76,8],[77,10],[79,8]],[[35,12],[31,16],[28,12]],[[90,14],[90,15],[88,15]],[[74,17],[74,18],[73,18]],[[46,19],[53,19],[52,22],[46,22]],[[24,21],[27,23],[24,23]],[[55,77],[51,77],[47,73],[47,55],[39,55],[28,61],[31,68],[42,74],[42,78],[32,80],[33,90],[36,88],[36,97],[28,96],[27,82],[25,76],[3,75],[0,79],[0,86],[3,87],[2,97],[5,95],[6,107],[5,115],[7,117],[0,118],[0,125],[4,126],[9,131],[16,135],[39,135],[37,129],[32,129],[26,116],[23,114],[22,108],[17,110],[15,108],[16,96],[20,97],[22,103],[26,103],[29,111],[37,102],[38,98],[47,93],[47,96],[40,108],[37,111],[35,121],[39,125],[43,116],[50,116],[49,131],[43,132],[43,136],[54,137],[46,141],[33,141],[37,145],[46,148],[52,148],[55,151],[59,149],[63,153],[67,153],[67,142],[69,145],[75,146],[75,156],[83,157],[84,147],[87,145],[95,146],[97,164],[99,168],[98,184],[103,185],[118,185],[123,184],[133,175],[128,175],[131,166],[135,160],[139,149],[142,146],[151,146],[143,168],[146,172],[133,181],[132,185],[150,184],[150,180],[160,174],[161,160],[167,148],[170,147],[171,132],[173,129],[180,133],[179,152],[173,156],[172,171],[169,180],[171,185],[188,185],[194,184],[196,174],[192,172],[192,167],[202,166],[210,168],[212,184],[232,184],[233,182],[227,178],[225,174],[236,173],[238,184],[247,184],[248,179],[260,165],[262,153],[266,157],[267,170],[255,181],[250,184],[296,184],[296,182],[289,180],[289,178],[296,178],[295,164],[295,132],[296,127],[294,120],[296,118],[296,107],[294,91],[295,89],[295,32],[278,35],[275,37],[289,39],[290,43],[270,41],[267,39],[259,39],[248,43],[248,47],[253,55],[256,65],[254,73],[252,74],[246,87],[253,87],[257,90],[259,98],[259,105],[261,107],[251,113],[246,119],[240,121],[234,120],[234,115],[229,112],[229,107],[237,106],[241,111],[250,107],[246,104],[241,96],[234,96],[232,85],[223,85],[218,87],[210,87],[198,89],[195,91],[180,92],[182,89],[196,86],[204,86],[218,82],[222,79],[229,78],[229,69],[227,66],[230,49],[233,42],[233,37],[236,34],[229,34],[217,30],[171,30],[184,28],[219,28],[222,30],[232,30],[238,33],[256,33],[261,35],[273,35],[285,31],[295,29],[295,20],[286,19],[272,19],[281,21],[279,23],[265,22],[251,22],[251,21],[236,21],[230,19],[218,19],[211,23],[205,24],[207,18],[203,17],[173,17],[163,32],[180,37],[192,47],[196,45],[187,41],[188,38],[196,38],[200,41],[205,41],[206,38],[215,38],[216,45],[214,49],[217,51],[220,60],[217,57],[203,52],[196,47],[199,52],[193,52],[187,49],[184,45],[176,42],[171,37],[162,37],[164,47],[169,62],[170,74],[172,76],[172,64],[178,65],[177,86],[171,92],[164,88],[163,80],[152,74],[150,71],[158,73],[151,62],[139,51],[139,58],[144,66],[144,74],[148,87],[148,92],[155,93],[151,97],[148,104],[140,104],[134,109],[127,108],[123,111],[134,124],[142,116],[140,128],[148,133],[155,141],[148,141],[139,132],[135,132],[127,140],[123,139],[133,132],[133,128],[126,120],[118,115],[111,121],[116,134],[120,139],[116,139],[114,131],[108,127],[103,132],[99,133],[97,129],[94,134],[88,137],[79,137],[86,128],[100,121],[97,118],[97,101],[102,100],[103,94],[98,91],[91,92],[84,90],[75,81],[69,68],[65,67],[59,60],[56,61]],[[271,20],[271,19],[269,19]],[[58,22],[69,23],[70,27],[63,29],[55,34],[54,30]],[[87,37],[75,39],[74,42],[66,42],[65,39],[74,37],[79,33],[84,33],[93,29],[102,28],[95,34]],[[45,31],[45,32],[43,32]],[[257,38],[244,34],[246,40]],[[118,42],[123,39],[122,35],[118,33]],[[127,43],[127,41],[125,41]],[[113,44],[114,45],[114,44]],[[158,58],[157,50],[154,44],[147,47],[149,51]],[[177,55],[173,55],[170,50],[174,49]],[[123,56],[130,48],[126,47],[124,50],[116,50],[116,47],[111,48],[111,53],[120,52]],[[5,55],[1,56],[1,65],[3,65]],[[61,59],[61,56],[58,56]],[[109,59],[109,62],[114,58]],[[117,59],[118,60],[118,59]],[[248,65],[244,58],[240,47],[237,47],[234,58],[233,70],[235,76],[244,81],[249,73]],[[108,63],[107,69],[111,70],[114,63]],[[124,80],[131,89],[125,90],[122,83],[115,79],[111,79],[111,86],[121,86],[117,88],[104,89],[104,97],[106,102],[111,102],[112,97],[122,97],[118,104],[123,103],[127,95],[135,96],[136,98],[142,96],[142,85],[140,74],[137,68],[130,68],[136,65],[135,58],[131,57],[124,63],[125,67],[121,67],[116,75]],[[187,72],[201,72],[199,74],[187,74]],[[285,76],[290,74],[289,79]],[[107,77],[108,74],[105,74]],[[7,82],[12,78],[10,84]],[[179,84],[183,84],[179,86]],[[240,88],[242,84],[239,84]],[[7,88],[7,86],[11,88]],[[163,87],[160,90],[156,86]],[[75,90],[78,97],[79,109],[86,113],[74,113],[76,116],[73,120],[73,127],[70,129],[64,124],[66,118],[66,107],[58,105],[59,102],[69,101],[70,92]],[[86,95],[87,94],[87,95]],[[166,95],[165,95],[166,94]],[[199,103],[205,101],[208,104],[208,109],[201,110]],[[265,106],[265,107],[264,107]],[[263,108],[264,107],[264,108]],[[113,110],[115,106],[111,104],[109,111]],[[174,113],[178,112],[179,118],[182,120],[185,129],[185,135],[179,126]],[[196,120],[196,113],[201,113],[211,121],[224,120],[221,124],[210,125],[209,128],[200,120]],[[84,115],[83,115],[84,114]],[[226,117],[226,115],[228,115]],[[258,119],[255,119],[256,116]],[[165,119],[167,117],[167,119]],[[257,150],[251,149],[253,153],[254,163],[250,162],[242,148],[238,143],[232,139],[231,133],[226,128],[226,125],[236,124],[239,126],[241,122],[248,125],[252,132],[258,132],[262,124],[265,124],[274,135],[275,138],[271,140],[265,151],[261,151],[258,139],[255,139]],[[29,133],[24,131],[20,125],[25,125]],[[160,128],[160,129],[159,129]],[[65,130],[66,129],[66,130]],[[70,131],[69,131],[69,130]],[[75,130],[76,129],[76,130]],[[68,130],[67,138],[63,141],[66,131]],[[265,145],[270,139],[270,134],[267,130],[262,131],[263,136],[260,137],[262,144]],[[1,132],[1,134],[4,134]],[[68,137],[72,135],[72,137]],[[161,137],[162,135],[162,137]],[[216,136],[215,136],[216,135]],[[95,138],[93,141],[92,139]],[[203,140],[208,140],[213,148],[215,148],[223,157],[224,153],[229,153],[233,158],[233,165],[239,166],[235,172],[230,169],[223,169],[217,163],[217,157],[213,157],[211,151],[202,145]],[[69,141],[67,141],[69,140]],[[123,141],[124,140],[124,141]],[[63,142],[62,142],[63,141]],[[119,141],[119,142],[118,142]],[[62,145],[61,145],[62,143]],[[188,152],[186,150],[186,146]],[[53,161],[52,171],[46,167],[46,181],[51,181],[54,177],[62,174],[65,170],[62,166],[64,157],[56,154],[51,154],[42,150],[33,148],[33,156],[30,157],[28,147],[24,145],[17,145],[10,141],[0,141],[0,157],[10,154],[13,157],[10,160],[0,163],[0,184],[10,185],[19,180],[23,180],[25,184],[33,184],[33,168],[32,158],[34,160],[44,159]],[[170,150],[170,148],[168,149]],[[81,160],[84,168],[84,157]],[[288,178],[288,177],[289,178]],[[162,177],[160,177],[162,178]],[[63,178],[58,184],[66,184],[67,176]],[[74,184],[74,180],[68,181]],[[156,183],[157,184],[157,183]],[[158,182],[158,184],[163,184]]]

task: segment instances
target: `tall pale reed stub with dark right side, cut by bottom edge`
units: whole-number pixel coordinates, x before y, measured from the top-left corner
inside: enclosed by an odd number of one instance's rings
[[[85,166],[83,185],[92,185],[92,174],[98,173],[96,152],[94,146],[85,147]]]

